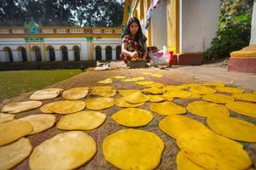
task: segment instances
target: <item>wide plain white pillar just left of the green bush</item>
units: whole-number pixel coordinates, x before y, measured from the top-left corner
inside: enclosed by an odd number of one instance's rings
[[[218,31],[220,0],[180,1],[180,52],[201,53]]]

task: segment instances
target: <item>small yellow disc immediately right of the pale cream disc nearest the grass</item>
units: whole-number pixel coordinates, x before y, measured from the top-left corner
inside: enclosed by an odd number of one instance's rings
[[[89,88],[70,88],[68,90],[65,90],[62,94],[62,97],[64,99],[83,99],[88,94]]]

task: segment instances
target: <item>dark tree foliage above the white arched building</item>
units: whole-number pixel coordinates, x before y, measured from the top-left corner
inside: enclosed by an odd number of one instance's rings
[[[33,17],[42,26],[121,26],[123,11],[116,0],[1,0],[0,22],[22,26]]]

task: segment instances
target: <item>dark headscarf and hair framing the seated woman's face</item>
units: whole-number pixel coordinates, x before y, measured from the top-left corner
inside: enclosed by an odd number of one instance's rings
[[[125,26],[125,30],[122,33],[121,37],[123,38],[125,35],[131,35],[131,31],[130,31],[130,26],[133,22],[137,23],[137,26],[139,27],[137,34],[135,35],[135,41],[137,41],[138,43],[140,43],[143,46],[143,50],[144,50],[144,44],[147,40],[147,38],[143,35],[143,31],[142,31],[142,26],[139,20],[137,20],[136,17],[131,17],[128,22],[127,25]]]

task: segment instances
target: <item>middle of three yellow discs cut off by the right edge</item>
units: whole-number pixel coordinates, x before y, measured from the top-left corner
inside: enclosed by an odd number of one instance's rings
[[[243,101],[234,101],[227,103],[225,105],[231,111],[235,111],[244,116],[251,116],[256,118],[256,104],[243,102]]]

